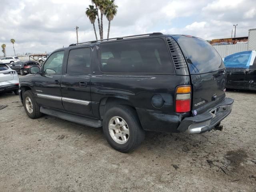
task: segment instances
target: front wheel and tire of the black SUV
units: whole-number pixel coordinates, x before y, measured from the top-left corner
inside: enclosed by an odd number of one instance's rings
[[[40,113],[40,106],[36,103],[36,100],[33,97],[32,91],[28,90],[24,93],[23,97],[23,106],[26,111],[26,114],[31,119],[36,119],[42,114]]]

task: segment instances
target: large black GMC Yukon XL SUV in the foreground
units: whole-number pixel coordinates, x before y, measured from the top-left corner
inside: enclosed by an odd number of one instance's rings
[[[41,113],[103,127],[109,144],[128,152],[145,130],[199,134],[221,130],[232,110],[226,70],[206,41],[142,34],[71,44],[20,78],[30,118]]]

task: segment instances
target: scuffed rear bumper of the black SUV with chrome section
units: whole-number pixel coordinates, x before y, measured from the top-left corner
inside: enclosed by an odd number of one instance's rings
[[[178,126],[178,130],[188,134],[199,134],[212,130],[230,114],[233,102],[232,98],[226,98],[223,102],[202,114],[184,118]]]

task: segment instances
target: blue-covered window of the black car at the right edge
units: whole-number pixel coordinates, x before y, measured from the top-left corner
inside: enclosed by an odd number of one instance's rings
[[[249,68],[251,51],[232,54],[224,58],[226,68]]]

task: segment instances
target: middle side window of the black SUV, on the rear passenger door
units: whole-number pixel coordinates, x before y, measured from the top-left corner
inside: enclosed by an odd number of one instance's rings
[[[90,73],[90,48],[70,50],[68,55],[67,73],[88,74]]]

